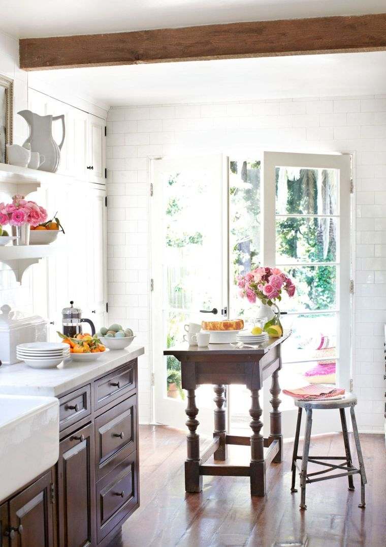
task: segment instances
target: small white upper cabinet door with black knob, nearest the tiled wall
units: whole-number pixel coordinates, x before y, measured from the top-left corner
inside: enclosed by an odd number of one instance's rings
[[[104,168],[106,167],[106,137],[104,128],[106,121],[97,116],[89,115],[89,181],[106,184]]]

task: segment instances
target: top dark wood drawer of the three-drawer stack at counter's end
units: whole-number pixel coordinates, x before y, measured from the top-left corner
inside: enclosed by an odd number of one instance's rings
[[[95,408],[117,399],[136,387],[136,360],[131,361],[114,373],[95,382]]]

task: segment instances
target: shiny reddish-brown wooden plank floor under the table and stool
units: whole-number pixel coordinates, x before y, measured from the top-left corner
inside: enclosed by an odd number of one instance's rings
[[[385,547],[385,440],[383,435],[360,438],[368,482],[366,508],[358,508],[360,480],[355,475],[355,492],[347,490],[345,478],[308,485],[308,508],[301,511],[300,492],[290,493],[292,443],[285,443],[284,462],[272,464],[267,472],[265,498],[250,498],[245,477],[204,477],[202,493],[185,494],[184,432],[142,426],[141,507],[111,545]],[[350,443],[354,453],[352,435]],[[249,447],[234,448],[243,450],[247,461]],[[342,436],[314,438],[311,449],[313,455],[342,456]]]

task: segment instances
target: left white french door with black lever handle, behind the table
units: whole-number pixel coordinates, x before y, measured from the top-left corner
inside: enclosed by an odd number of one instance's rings
[[[180,384],[180,363],[172,356],[164,357],[163,350],[184,343],[186,323],[221,319],[221,310],[226,313],[223,157],[154,159],[151,171],[155,419],[185,429],[186,400]],[[196,391],[201,433],[213,432],[213,397],[212,386],[201,386]]]

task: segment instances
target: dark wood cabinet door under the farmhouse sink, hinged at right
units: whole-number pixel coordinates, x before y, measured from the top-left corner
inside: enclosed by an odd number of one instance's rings
[[[54,545],[52,515],[51,472],[49,472],[9,502],[9,523],[16,530],[12,545],[18,547]]]

